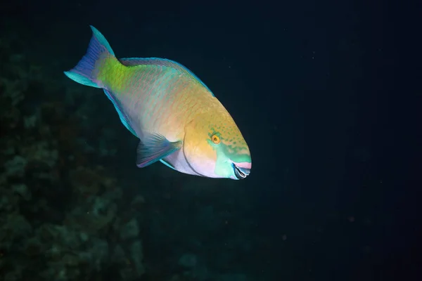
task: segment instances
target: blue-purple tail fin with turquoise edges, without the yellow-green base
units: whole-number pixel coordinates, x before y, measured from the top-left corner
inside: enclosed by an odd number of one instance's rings
[[[79,84],[86,86],[101,88],[101,84],[98,83],[98,61],[103,60],[109,56],[115,56],[113,50],[108,44],[106,37],[101,34],[95,27],[91,26],[92,37],[89,42],[87,53],[84,55],[82,60],[69,71],[65,71],[65,75],[77,81]]]

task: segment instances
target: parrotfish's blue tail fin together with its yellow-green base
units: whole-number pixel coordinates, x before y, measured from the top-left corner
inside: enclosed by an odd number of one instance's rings
[[[65,71],[65,75],[79,84],[95,88],[103,88],[103,81],[110,74],[110,68],[120,64],[119,60],[108,44],[106,37],[95,27],[91,26],[92,37],[89,41],[87,53],[79,60],[72,70]]]

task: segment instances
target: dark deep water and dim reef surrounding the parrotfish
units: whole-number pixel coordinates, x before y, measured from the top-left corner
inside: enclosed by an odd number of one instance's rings
[[[420,280],[416,11],[1,2],[0,280]],[[89,25],[117,57],[197,74],[248,142],[251,175],[137,169],[113,105],[63,74]]]

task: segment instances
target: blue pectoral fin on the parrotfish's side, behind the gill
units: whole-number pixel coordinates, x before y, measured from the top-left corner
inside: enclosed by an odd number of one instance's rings
[[[158,133],[140,141],[136,150],[136,166],[143,168],[171,155],[181,148],[181,141],[170,142]]]

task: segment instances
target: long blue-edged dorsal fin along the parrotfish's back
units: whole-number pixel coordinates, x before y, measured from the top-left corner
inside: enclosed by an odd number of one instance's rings
[[[189,77],[192,81],[200,83],[202,86],[205,87],[208,91],[210,91],[211,95],[214,96],[214,93],[201,81],[191,70],[188,70],[187,67],[177,63],[173,60],[167,60],[167,58],[120,58],[120,63],[122,65],[126,65],[128,67],[136,66],[136,65],[160,65],[165,67],[171,67],[174,70],[177,70],[181,74],[185,74],[186,77]]]

